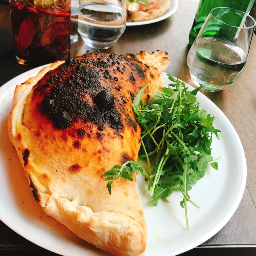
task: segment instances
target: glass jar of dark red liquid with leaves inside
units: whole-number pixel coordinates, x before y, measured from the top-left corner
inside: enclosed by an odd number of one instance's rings
[[[39,66],[70,58],[71,1],[9,0],[16,60]]]

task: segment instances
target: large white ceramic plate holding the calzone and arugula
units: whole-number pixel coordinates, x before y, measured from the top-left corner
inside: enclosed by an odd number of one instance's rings
[[[29,70],[0,87],[0,220],[20,236],[49,251],[64,255],[106,256],[71,233],[58,221],[47,216],[34,200],[28,180],[12,147],[7,132],[7,119],[16,84],[34,76],[42,67]],[[165,84],[170,81],[163,74]],[[189,85],[188,85],[189,86]],[[193,87],[189,86],[189,89]],[[186,230],[184,209],[179,192],[169,197],[170,203],[159,201],[156,207],[149,200],[145,182],[138,174],[138,187],[148,226],[148,247],[145,256],[171,256],[186,252],[215,235],[236,211],[244,193],[246,161],[240,139],[227,117],[204,94],[198,92],[200,108],[215,117],[220,140],[212,140],[212,156],[220,155],[219,169],[207,169],[203,179],[189,191],[189,230]],[[227,189],[228,188],[228,189]]]

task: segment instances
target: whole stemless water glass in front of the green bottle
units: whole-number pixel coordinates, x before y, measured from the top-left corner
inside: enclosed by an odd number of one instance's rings
[[[187,55],[194,84],[210,92],[233,84],[244,69],[254,29],[255,20],[245,12],[213,8]]]

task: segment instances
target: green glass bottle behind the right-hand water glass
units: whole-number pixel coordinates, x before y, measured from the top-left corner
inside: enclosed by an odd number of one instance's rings
[[[209,12],[214,7],[230,7],[246,13],[252,9],[254,0],[200,0],[196,16],[189,32],[189,44],[192,45],[199,30],[202,28]]]

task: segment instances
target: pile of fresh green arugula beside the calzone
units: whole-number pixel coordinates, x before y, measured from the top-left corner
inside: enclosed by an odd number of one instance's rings
[[[139,158],[146,162],[143,168],[139,162],[127,161],[114,166],[103,174],[107,180],[108,192],[111,184],[119,177],[133,180],[133,173],[140,172],[148,182],[151,200],[156,206],[158,200],[168,203],[173,191],[180,191],[183,200],[180,206],[185,210],[188,229],[187,202],[199,208],[188,191],[197,180],[205,175],[210,164],[218,169],[218,160],[211,155],[212,136],[219,138],[220,130],[213,127],[214,117],[200,109],[196,93],[200,87],[188,91],[185,83],[167,74],[172,82],[156,91],[153,100],[143,104],[141,95],[145,85],[133,100],[133,111],[141,127]]]

